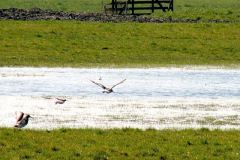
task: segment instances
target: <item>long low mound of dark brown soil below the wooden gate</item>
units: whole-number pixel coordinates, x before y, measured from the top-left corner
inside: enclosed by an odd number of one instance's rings
[[[196,19],[173,19],[153,18],[136,15],[109,15],[103,13],[71,13],[63,11],[42,10],[40,8],[32,9],[0,9],[0,19],[14,20],[79,20],[96,22],[154,22],[154,23],[197,23],[201,18]],[[214,23],[226,23],[224,20],[209,20]]]

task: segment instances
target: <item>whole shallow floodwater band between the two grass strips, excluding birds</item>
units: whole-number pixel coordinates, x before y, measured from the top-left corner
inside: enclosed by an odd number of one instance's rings
[[[90,80],[111,86],[103,94]],[[240,128],[240,70],[0,68],[0,125],[26,128]],[[55,105],[56,97],[66,103]]]

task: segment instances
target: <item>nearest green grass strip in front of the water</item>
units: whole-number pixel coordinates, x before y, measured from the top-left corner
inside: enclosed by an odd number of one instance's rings
[[[0,129],[0,159],[225,160],[240,156],[240,132],[200,130]]]

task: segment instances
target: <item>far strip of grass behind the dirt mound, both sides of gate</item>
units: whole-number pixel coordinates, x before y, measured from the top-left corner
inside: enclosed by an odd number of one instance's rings
[[[109,3],[111,0],[103,0]],[[224,19],[240,22],[239,0],[176,0],[173,13],[156,12],[153,16],[173,18],[201,18],[204,20]],[[74,11],[102,12],[102,0],[0,0],[0,8],[33,8]]]

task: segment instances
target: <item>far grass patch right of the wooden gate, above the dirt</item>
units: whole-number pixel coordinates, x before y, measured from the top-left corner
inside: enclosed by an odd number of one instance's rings
[[[239,0],[176,0],[174,12],[156,12],[156,17],[222,19],[240,22]]]

